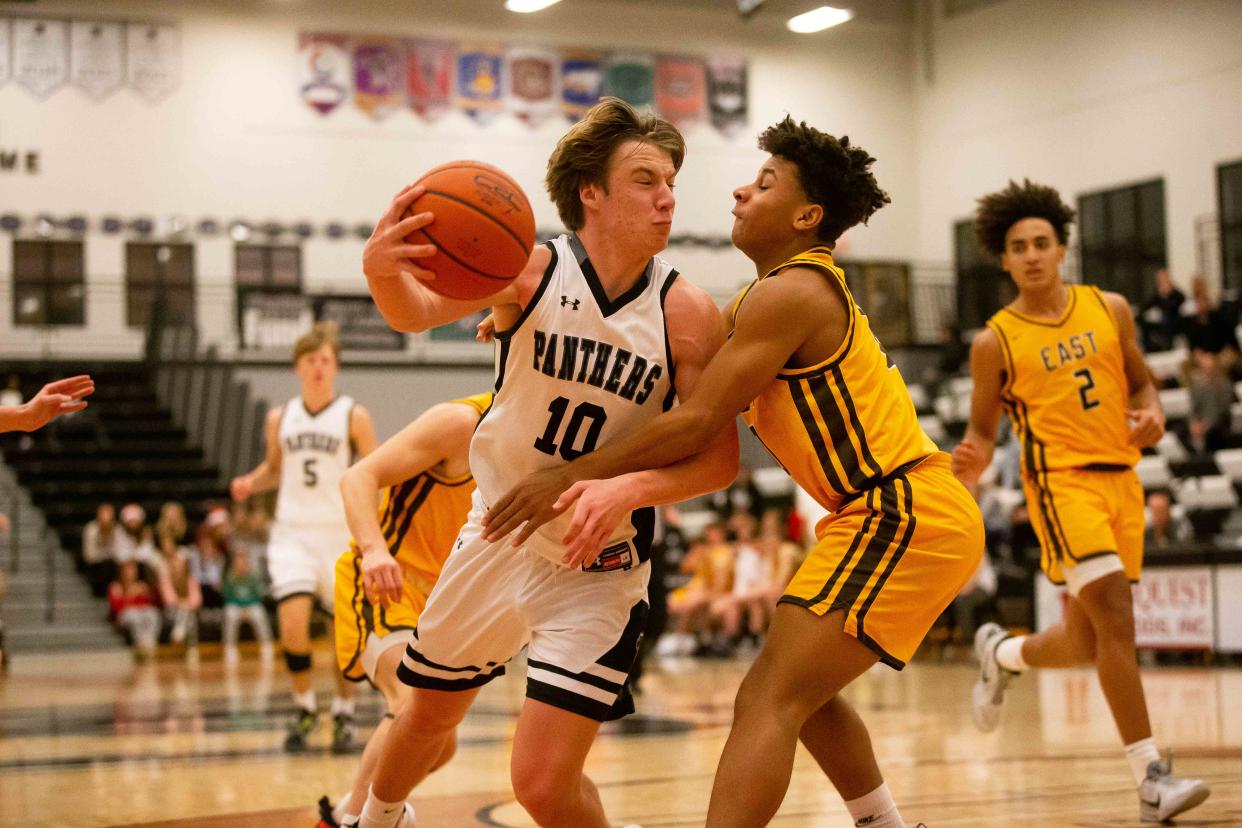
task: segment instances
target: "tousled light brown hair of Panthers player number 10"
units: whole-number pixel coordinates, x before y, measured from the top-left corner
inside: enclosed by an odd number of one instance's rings
[[[560,220],[569,230],[581,230],[586,211],[579,197],[584,184],[600,184],[607,192],[609,159],[612,150],[627,140],[653,144],[668,153],[673,169],[682,169],[686,139],[663,118],[640,114],[621,98],[600,98],[556,143],[548,159],[544,184],[556,205]]]

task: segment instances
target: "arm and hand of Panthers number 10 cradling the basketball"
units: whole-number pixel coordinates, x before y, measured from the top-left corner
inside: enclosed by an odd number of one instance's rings
[[[435,245],[406,242],[406,236],[436,220],[431,212],[405,215],[424,191],[421,185],[409,185],[397,192],[363,250],[363,273],[380,315],[394,330],[420,333],[489,307],[499,325],[512,326],[539,287],[551,258],[550,251],[535,245],[518,276],[492,295],[478,299],[443,297],[426,284],[435,281],[436,274],[419,264],[420,259],[436,254]]]

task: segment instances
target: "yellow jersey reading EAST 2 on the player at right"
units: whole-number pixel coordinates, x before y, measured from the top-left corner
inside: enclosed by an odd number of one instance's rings
[[[1068,286],[1061,319],[1002,308],[987,326],[1005,356],[1001,402],[1022,443],[1022,472],[1134,466],[1130,397],[1117,319],[1093,286]]]

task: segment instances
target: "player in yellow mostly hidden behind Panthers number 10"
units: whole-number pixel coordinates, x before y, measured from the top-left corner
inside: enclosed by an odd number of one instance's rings
[[[337,663],[350,682],[370,679],[388,713],[350,792],[335,808],[320,799],[320,826],[358,824],[390,720],[410,700],[396,667],[469,513],[469,441],[491,405],[492,394],[479,394],[433,406],[340,478],[354,540],[337,560]],[[450,740],[435,767],[455,747]]]

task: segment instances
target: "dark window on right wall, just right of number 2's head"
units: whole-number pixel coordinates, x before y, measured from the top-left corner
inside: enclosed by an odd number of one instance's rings
[[[1141,305],[1166,267],[1164,180],[1078,197],[1082,281]]]

